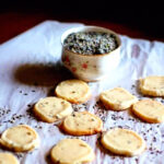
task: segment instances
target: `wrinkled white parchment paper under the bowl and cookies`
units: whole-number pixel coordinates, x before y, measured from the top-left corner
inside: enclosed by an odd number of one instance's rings
[[[24,34],[0,45],[0,133],[9,127],[27,124],[39,134],[39,149],[30,153],[14,153],[21,164],[46,164],[50,149],[63,138],[73,138],[60,131],[58,125],[37,120],[33,105],[40,98],[54,95],[54,89],[62,80],[72,78],[60,65],[61,34],[82,24],[46,21]],[[93,164],[163,164],[164,125],[147,124],[129,110],[112,112],[98,102],[106,89],[122,86],[139,98],[138,79],[150,74],[164,75],[164,44],[120,36],[122,42],[119,67],[101,82],[90,83],[92,98],[86,104],[73,105],[74,110],[96,114],[104,121],[104,130],[122,127],[137,131],[147,141],[147,151],[140,156],[117,156],[99,144],[99,134],[80,137],[96,153]],[[163,103],[162,98],[155,98]],[[0,151],[7,151],[0,148]],[[74,154],[75,155],[75,154]]]

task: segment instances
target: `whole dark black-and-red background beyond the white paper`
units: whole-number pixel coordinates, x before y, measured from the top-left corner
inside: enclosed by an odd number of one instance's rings
[[[45,21],[99,25],[131,37],[164,40],[164,8],[159,1],[5,0],[0,3],[0,43]]]

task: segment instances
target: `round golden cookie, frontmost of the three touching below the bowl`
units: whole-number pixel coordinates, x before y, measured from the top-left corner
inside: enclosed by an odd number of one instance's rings
[[[103,121],[87,112],[73,113],[65,118],[62,129],[73,136],[94,134],[102,131]]]

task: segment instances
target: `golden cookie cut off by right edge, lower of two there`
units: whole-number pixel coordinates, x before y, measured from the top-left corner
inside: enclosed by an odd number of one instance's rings
[[[142,99],[133,104],[132,112],[148,122],[164,121],[164,105],[152,99]]]

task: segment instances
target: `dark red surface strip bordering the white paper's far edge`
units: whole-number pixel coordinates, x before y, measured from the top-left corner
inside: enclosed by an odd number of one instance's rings
[[[119,34],[128,35],[136,38],[145,38],[150,40],[164,42],[162,35],[154,32],[148,32],[142,26],[131,25],[130,23],[119,23],[114,21],[99,21],[86,19],[71,19],[71,16],[54,15],[50,13],[21,13],[21,12],[3,12],[0,13],[0,44],[10,38],[25,32],[26,30],[37,25],[46,20],[57,20],[61,22],[80,22],[87,25],[97,25],[110,28]]]

